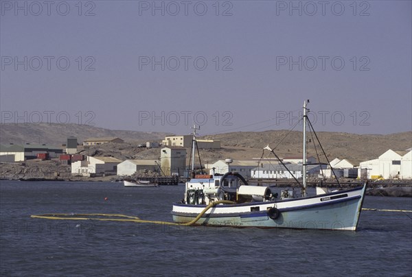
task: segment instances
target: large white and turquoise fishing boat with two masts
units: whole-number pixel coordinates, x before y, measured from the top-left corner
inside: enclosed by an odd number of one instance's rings
[[[249,185],[236,172],[227,172],[222,176],[203,174],[186,182],[183,200],[173,204],[173,220],[181,224],[197,220],[196,224],[206,226],[356,230],[366,183],[354,189],[334,191],[317,187],[315,195],[306,193],[307,104],[308,101],[305,101],[302,118],[304,162],[301,195],[288,189],[277,195],[268,186]],[[196,140],[195,135],[196,131],[193,141]],[[264,149],[275,154],[269,145]],[[295,180],[299,183],[297,178]]]

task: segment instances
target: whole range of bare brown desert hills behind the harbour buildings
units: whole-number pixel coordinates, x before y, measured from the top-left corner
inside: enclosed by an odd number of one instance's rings
[[[288,134],[288,136],[286,136]],[[114,156],[122,160],[126,159],[155,159],[160,156],[159,149],[146,149],[137,147],[138,143],[146,141],[158,141],[164,138],[162,132],[137,132],[124,130],[108,130],[90,125],[78,124],[1,124],[1,143],[47,143],[62,145],[67,136],[76,136],[78,142],[88,137],[117,136],[126,143],[110,143],[95,145],[89,149],[80,147],[82,154],[91,156]],[[341,132],[317,133],[323,148],[330,160],[334,158],[346,158],[359,162],[378,158],[380,154],[393,150],[405,150],[412,147],[412,132],[396,134],[349,134]],[[316,139],[308,132],[308,154],[317,157],[314,150]],[[224,158],[236,160],[260,158],[262,149],[270,145],[278,156],[297,156],[302,153],[302,132],[287,130],[271,130],[265,132],[231,132],[203,136],[201,139],[218,139],[221,141],[221,149],[201,149],[202,162],[211,163]],[[315,143],[318,145],[318,143]],[[321,149],[317,151],[322,162],[325,162]],[[187,149],[190,152],[190,149]],[[190,156],[190,155],[187,155]],[[273,158],[273,154],[264,153],[264,157]]]

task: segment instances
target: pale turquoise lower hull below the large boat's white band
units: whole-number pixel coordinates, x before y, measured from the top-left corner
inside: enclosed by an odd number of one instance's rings
[[[323,230],[356,230],[358,213],[361,210],[361,197],[346,201],[336,201],[322,206],[303,209],[281,210],[277,219],[268,217],[266,211],[245,213],[243,215],[219,215],[202,217],[197,224],[211,226],[239,226],[261,228],[303,228]],[[175,222],[189,222],[193,215],[173,213]]]

